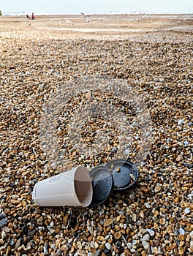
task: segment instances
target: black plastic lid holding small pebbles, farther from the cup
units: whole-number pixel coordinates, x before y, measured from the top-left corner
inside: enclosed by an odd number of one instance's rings
[[[124,190],[132,187],[137,181],[137,166],[127,159],[115,159],[106,165],[113,174],[114,190]]]

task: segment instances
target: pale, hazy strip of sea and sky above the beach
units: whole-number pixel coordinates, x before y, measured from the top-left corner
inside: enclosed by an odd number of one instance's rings
[[[177,12],[193,13],[192,0],[0,0],[4,14],[25,13],[107,13]]]

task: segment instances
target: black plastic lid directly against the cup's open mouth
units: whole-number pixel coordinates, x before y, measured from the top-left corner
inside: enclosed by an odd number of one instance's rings
[[[93,199],[90,206],[99,206],[110,197],[113,191],[113,176],[105,165],[94,167],[89,174],[93,186]]]

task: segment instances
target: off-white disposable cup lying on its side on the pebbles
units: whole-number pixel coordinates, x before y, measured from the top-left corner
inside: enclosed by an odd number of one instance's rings
[[[38,206],[82,206],[91,204],[91,177],[83,166],[37,182],[32,198]]]

